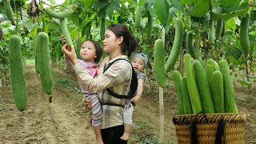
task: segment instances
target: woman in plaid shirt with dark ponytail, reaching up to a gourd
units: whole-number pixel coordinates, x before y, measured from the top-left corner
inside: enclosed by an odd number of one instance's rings
[[[129,62],[117,60],[126,58],[138,47],[138,42],[131,37],[128,28],[122,24],[111,24],[107,27],[105,39],[103,40],[103,51],[110,54],[110,58],[102,61],[101,68],[98,70],[98,77],[93,78],[88,74],[77,61],[74,46],[69,49],[66,45],[62,46],[62,51],[66,57],[70,58],[78,81],[91,93],[97,93],[102,103],[102,139],[108,143],[127,143],[122,141],[124,132],[123,106],[124,98],[115,98],[110,95],[108,90],[114,94],[127,95],[130,90],[132,69]],[[102,70],[114,62],[106,71]],[[104,71],[104,72],[103,72]],[[91,102],[84,100],[86,107],[91,108]]]

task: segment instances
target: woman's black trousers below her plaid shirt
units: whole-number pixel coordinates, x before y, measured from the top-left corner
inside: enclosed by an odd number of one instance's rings
[[[102,129],[102,139],[104,144],[127,144],[127,141],[122,141],[120,137],[124,132],[123,125],[114,126],[107,129]]]

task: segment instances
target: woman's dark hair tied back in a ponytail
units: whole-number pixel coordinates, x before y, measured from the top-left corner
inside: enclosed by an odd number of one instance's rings
[[[111,24],[106,28],[107,30],[111,30],[117,38],[123,37],[122,41],[122,53],[126,54],[130,57],[130,54],[136,50],[138,47],[138,42],[135,38],[130,35],[130,31],[127,26],[122,25],[120,23]]]

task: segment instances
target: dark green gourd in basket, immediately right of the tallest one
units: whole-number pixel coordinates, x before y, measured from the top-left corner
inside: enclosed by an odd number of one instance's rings
[[[198,83],[198,90],[202,102],[202,110],[205,114],[214,114],[214,102],[211,96],[210,87],[206,78],[206,71],[201,62],[194,62],[194,74]]]

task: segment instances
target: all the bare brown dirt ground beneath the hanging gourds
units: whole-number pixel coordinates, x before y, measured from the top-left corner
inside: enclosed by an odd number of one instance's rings
[[[82,106],[82,95],[72,72],[54,67],[53,102],[42,92],[33,65],[25,67],[28,102],[26,110],[16,109],[11,86],[0,87],[0,143],[94,143],[90,114]],[[246,143],[256,143],[256,88],[235,84],[238,110],[247,114]],[[177,97],[170,81],[164,93],[165,142],[177,143],[172,118],[177,110]],[[134,129],[139,122],[150,125],[147,135],[159,134],[158,86],[147,81],[142,99],[134,110]],[[131,139],[145,131],[133,131]],[[128,143],[140,143],[130,140]]]

